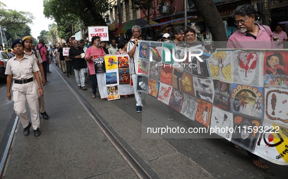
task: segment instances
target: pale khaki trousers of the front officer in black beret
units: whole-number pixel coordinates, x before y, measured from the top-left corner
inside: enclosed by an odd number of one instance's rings
[[[40,126],[40,118],[38,111],[38,85],[36,81],[27,82],[25,84],[14,83],[12,86],[14,110],[21,120],[23,128],[29,125],[28,117],[26,114],[26,100],[29,106],[31,122],[33,130],[37,130]]]

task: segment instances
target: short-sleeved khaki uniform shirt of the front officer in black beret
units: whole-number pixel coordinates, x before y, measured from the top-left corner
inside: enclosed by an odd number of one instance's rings
[[[5,74],[13,75],[13,79],[16,80],[27,80],[33,78],[33,72],[36,71],[39,71],[36,61],[28,55],[24,55],[20,61],[16,56],[8,60]]]

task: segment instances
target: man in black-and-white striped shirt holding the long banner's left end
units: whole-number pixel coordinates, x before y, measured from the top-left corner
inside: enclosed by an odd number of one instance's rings
[[[135,53],[139,50],[138,39],[141,35],[140,26],[134,25],[132,27],[133,38],[127,44],[127,53],[129,55],[129,70],[133,81],[134,96],[136,100],[136,112],[142,112],[142,106],[146,107],[145,93],[137,92],[137,75],[138,72],[138,54]]]

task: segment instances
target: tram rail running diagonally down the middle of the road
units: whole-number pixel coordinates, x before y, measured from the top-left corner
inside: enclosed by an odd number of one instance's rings
[[[133,170],[135,175],[139,179],[151,179],[152,177],[148,175],[146,170],[134,159],[134,157],[130,154],[130,152],[127,151],[126,147],[123,146],[119,140],[115,137],[115,135],[107,128],[107,126],[102,122],[101,118],[102,116],[97,116],[92,108],[92,106],[85,98],[82,97],[82,95],[79,94],[79,92],[74,88],[71,83],[63,77],[59,70],[53,65],[55,70],[57,71],[59,77],[65,82],[65,84],[69,87],[69,89],[73,92],[73,94],[77,97],[77,99],[80,101],[80,103],[83,105],[83,107],[86,109],[86,111],[90,114],[90,116],[95,121],[96,125],[99,127],[99,129],[104,133],[104,135],[107,137],[107,139],[110,141],[110,143],[115,147],[117,152],[121,155],[121,157],[125,160],[125,162],[130,166],[130,168]],[[151,173],[151,172],[150,172]],[[160,177],[153,172],[153,179],[160,179]]]

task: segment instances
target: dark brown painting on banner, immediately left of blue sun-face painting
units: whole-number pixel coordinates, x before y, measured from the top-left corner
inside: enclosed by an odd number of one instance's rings
[[[214,101],[213,106],[220,109],[231,111],[231,84],[228,82],[213,80],[214,83]]]

